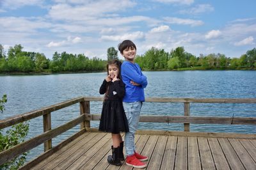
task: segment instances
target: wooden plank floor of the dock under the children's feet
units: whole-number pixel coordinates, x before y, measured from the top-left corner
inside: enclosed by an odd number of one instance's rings
[[[136,134],[146,169],[256,169],[256,139]],[[111,134],[86,132],[32,169],[132,169],[112,166]]]

